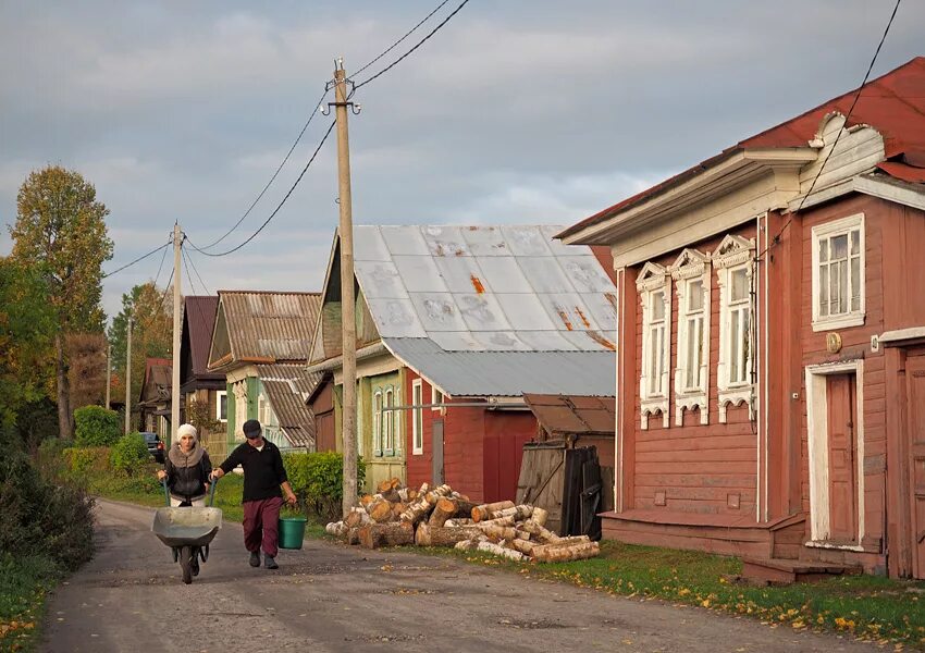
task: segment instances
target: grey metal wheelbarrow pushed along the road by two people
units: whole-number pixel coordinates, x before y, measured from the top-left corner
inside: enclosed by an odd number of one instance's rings
[[[171,547],[173,562],[178,562],[183,570],[183,582],[189,584],[193,582],[193,577],[199,575],[199,560],[205,563],[209,559],[209,543],[222,528],[222,510],[212,507],[218,479],[212,481],[209,490],[209,507],[206,508],[171,507],[166,481],[161,484],[164,488],[166,507],[158,508],[155,513],[151,531],[161,542]]]

